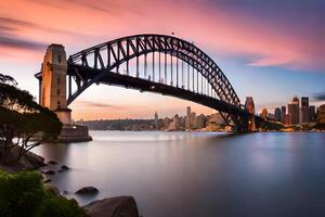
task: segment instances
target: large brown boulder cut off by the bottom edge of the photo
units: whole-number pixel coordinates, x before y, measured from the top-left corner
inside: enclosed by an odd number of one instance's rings
[[[117,196],[91,202],[83,206],[90,217],[139,217],[132,196]]]

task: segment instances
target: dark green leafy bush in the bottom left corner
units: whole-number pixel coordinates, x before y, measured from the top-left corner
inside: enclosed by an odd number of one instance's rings
[[[0,171],[1,217],[83,217],[75,200],[54,195],[42,184],[36,171]]]

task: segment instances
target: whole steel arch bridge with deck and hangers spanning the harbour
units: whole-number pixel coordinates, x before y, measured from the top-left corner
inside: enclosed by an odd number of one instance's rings
[[[90,86],[103,84],[206,105],[218,111],[225,124],[237,131],[249,131],[252,122],[257,125],[263,122],[240,103],[231,82],[211,58],[194,43],[173,36],[128,36],[82,50],[67,60],[61,60],[66,59],[65,53],[56,53],[57,60],[53,52],[50,61],[46,54],[42,72],[36,74],[40,80],[40,102],[44,105],[43,81],[49,76],[47,72],[53,74],[56,68],[64,76],[61,82],[57,77],[58,85],[64,84],[57,95],[65,98],[57,101],[58,107],[67,107]],[[53,94],[53,90],[51,92]]]

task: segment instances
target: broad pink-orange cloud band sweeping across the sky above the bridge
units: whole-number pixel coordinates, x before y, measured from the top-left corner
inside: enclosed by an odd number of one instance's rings
[[[320,58],[325,54],[324,44],[217,5],[148,0],[27,2],[1,3],[5,16],[38,26],[21,26],[15,34],[34,41],[64,43],[73,51],[125,35],[174,31],[204,50],[253,60],[247,62],[250,66],[325,68]]]

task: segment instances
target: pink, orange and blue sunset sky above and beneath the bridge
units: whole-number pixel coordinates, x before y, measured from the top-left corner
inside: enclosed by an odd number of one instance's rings
[[[144,33],[194,41],[229,78],[242,103],[285,105],[294,95],[324,101],[324,0],[0,0],[0,72],[38,97],[38,73],[50,43],[68,55]],[[324,99],[323,99],[324,100]],[[164,103],[162,103],[164,102]],[[70,106],[75,119],[147,118],[213,111],[187,101],[93,86]]]

